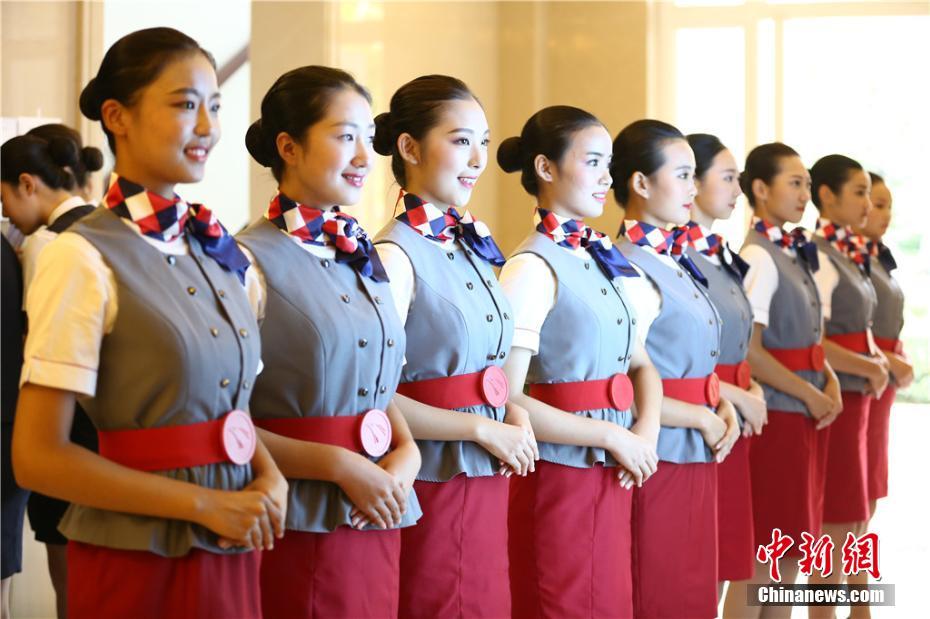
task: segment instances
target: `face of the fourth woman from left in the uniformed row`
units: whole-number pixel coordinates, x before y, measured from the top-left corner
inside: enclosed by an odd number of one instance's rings
[[[540,155],[542,157],[542,155]],[[610,190],[611,139],[601,125],[581,129],[558,162],[549,162],[540,177],[540,201],[572,219],[598,217]]]

